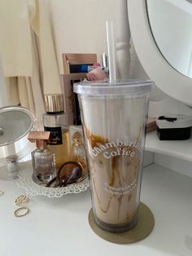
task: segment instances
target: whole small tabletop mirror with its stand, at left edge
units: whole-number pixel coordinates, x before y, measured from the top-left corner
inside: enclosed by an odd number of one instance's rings
[[[18,178],[17,161],[23,161],[33,148],[25,138],[33,128],[34,116],[27,108],[0,108],[0,179]]]

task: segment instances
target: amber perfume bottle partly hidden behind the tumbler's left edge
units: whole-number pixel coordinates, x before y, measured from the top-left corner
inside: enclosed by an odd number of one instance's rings
[[[78,131],[72,135],[72,159],[83,166],[84,174],[87,172],[84,139]]]

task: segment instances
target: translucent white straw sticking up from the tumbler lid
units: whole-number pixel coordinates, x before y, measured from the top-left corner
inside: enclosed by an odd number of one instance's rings
[[[109,65],[109,81],[116,81],[116,48],[114,42],[114,30],[111,20],[106,21],[107,29],[107,51],[108,51],[108,65]]]

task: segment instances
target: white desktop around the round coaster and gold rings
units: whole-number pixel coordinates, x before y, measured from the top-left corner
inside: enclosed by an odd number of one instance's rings
[[[161,166],[145,168],[142,201],[155,215],[155,229],[145,240],[116,245],[89,227],[89,190],[61,198],[30,196],[30,213],[15,218],[14,199],[24,190],[1,180],[0,256],[191,256],[192,179]]]

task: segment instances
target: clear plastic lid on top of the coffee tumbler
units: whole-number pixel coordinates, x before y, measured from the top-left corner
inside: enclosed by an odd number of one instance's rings
[[[73,90],[80,95],[140,95],[150,92],[153,84],[151,80],[86,81],[75,83]]]

